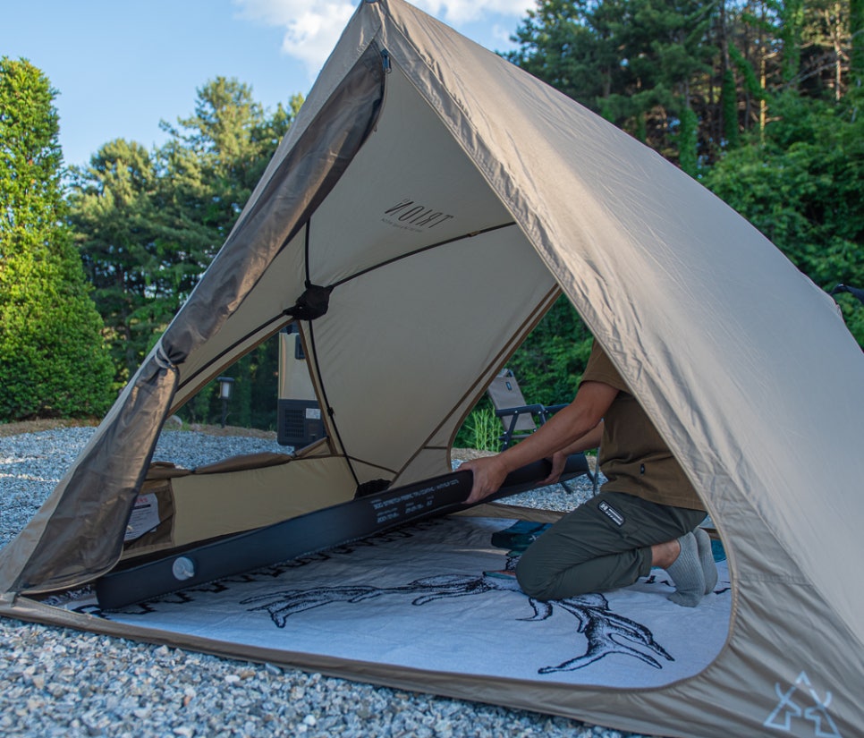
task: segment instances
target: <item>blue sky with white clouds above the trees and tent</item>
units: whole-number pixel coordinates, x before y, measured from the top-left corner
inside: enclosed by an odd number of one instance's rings
[[[151,148],[217,76],[268,108],[306,94],[359,0],[0,0],[0,56],[26,58],[58,91],[60,143],[83,165],[109,140]],[[534,0],[414,0],[494,51]]]

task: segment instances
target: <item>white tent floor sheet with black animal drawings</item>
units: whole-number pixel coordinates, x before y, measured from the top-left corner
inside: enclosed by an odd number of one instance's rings
[[[548,603],[512,569],[537,523],[453,516],[103,612],[89,592],[47,600],[154,631],[444,673],[656,688],[699,673],[726,639],[729,575],[679,607],[661,569],[631,587]]]

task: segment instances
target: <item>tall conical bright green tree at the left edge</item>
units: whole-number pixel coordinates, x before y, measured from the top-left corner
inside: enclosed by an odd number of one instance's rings
[[[93,416],[111,361],[64,225],[56,92],[25,60],[0,59],[0,419]]]

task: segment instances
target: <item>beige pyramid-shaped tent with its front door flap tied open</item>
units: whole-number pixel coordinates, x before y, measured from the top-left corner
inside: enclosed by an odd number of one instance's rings
[[[159,640],[37,595],[448,471],[462,419],[559,291],[724,539],[724,648],[647,691],[307,666],[643,732],[860,734],[864,356],[833,303],[697,182],[402,0],[360,4],[198,288],[0,555],[2,612]],[[326,442],[245,460],[241,497],[238,471],[151,474],[174,515],[124,553],[165,418],[295,317]]]

